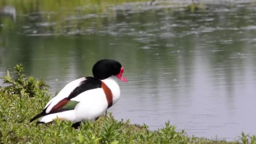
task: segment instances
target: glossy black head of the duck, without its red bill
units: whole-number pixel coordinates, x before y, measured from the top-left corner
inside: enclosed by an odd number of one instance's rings
[[[113,59],[101,59],[93,66],[93,77],[104,80],[112,75],[118,75],[122,65]]]

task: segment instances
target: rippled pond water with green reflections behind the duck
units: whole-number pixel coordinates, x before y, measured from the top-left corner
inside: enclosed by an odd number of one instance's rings
[[[213,139],[256,134],[255,5],[2,5],[0,76],[22,63],[54,95],[99,59],[116,59],[129,80],[109,109],[116,119],[152,130],[169,120]]]

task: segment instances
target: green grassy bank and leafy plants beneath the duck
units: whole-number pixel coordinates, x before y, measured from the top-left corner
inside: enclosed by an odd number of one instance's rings
[[[84,143],[84,144],[237,144],[239,141],[209,140],[189,137],[184,131],[175,131],[169,122],[164,128],[149,131],[147,125],[131,125],[129,120],[120,122],[111,113],[101,116],[95,123],[82,123],[80,129],[72,123],[56,120],[49,125],[28,123],[50,99],[45,81],[24,75],[22,65],[15,67],[16,77],[7,72],[1,79],[10,85],[0,88],[0,144],[11,143]],[[256,142],[256,136],[242,133],[240,142]]]

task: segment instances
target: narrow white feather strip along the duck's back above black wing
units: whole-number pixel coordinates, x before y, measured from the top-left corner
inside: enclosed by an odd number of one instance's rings
[[[51,109],[59,103],[59,101],[61,101],[62,99],[66,98],[69,96],[69,94],[78,86],[80,85],[80,83],[85,80],[85,77],[82,77],[80,79],[74,80],[70,83],[68,83],[64,88],[62,88],[62,90],[58,93],[57,96],[55,96],[53,99],[51,99],[45,106],[48,107],[46,109],[46,113],[49,113],[51,111]]]

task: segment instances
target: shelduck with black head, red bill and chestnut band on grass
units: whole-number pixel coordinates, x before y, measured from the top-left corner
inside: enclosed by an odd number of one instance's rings
[[[93,77],[82,77],[65,85],[29,123],[39,117],[37,123],[61,119],[71,121],[72,127],[78,128],[83,121],[97,120],[120,98],[116,80],[128,80],[123,77],[124,68],[120,62],[113,59],[97,61],[92,72]]]

